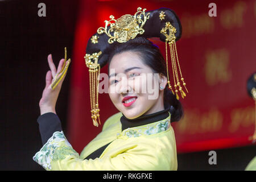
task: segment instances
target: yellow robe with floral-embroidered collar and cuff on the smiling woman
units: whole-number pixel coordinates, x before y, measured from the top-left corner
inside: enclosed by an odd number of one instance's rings
[[[56,131],[35,154],[35,162],[47,170],[177,170],[174,130],[166,119],[122,131],[122,113],[112,115],[102,131],[79,155]],[[111,143],[110,143],[111,142]],[[98,148],[108,144],[100,158],[85,159]]]

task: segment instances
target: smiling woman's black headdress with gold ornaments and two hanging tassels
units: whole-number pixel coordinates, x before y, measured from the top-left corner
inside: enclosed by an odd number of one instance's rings
[[[110,20],[105,20],[105,27],[98,28],[97,33],[89,39],[86,47],[85,64],[89,68],[90,104],[94,126],[98,126],[98,122],[100,122],[100,109],[98,109],[99,79],[97,78],[100,75],[100,68],[108,63],[110,53],[108,50],[111,49],[112,46],[126,43],[128,40],[138,36],[143,36],[144,38],[156,37],[166,43],[168,88],[172,90],[168,75],[167,44],[169,44],[176,98],[179,100],[179,91],[181,97],[184,98],[186,95],[179,81],[179,73],[181,77],[180,80],[183,81],[183,86],[185,87],[186,84],[181,75],[175,43],[181,37],[182,28],[180,20],[174,11],[161,8],[146,12],[146,9],[142,10],[141,7],[138,7],[134,15],[126,14],[118,19],[114,19],[114,16],[111,15],[109,18]],[[177,87],[179,87],[179,90]],[[187,90],[186,87],[185,89]],[[172,93],[175,94],[173,90]]]

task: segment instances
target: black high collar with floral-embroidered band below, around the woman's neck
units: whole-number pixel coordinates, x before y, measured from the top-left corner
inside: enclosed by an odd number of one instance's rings
[[[171,114],[169,109],[157,113],[143,115],[135,119],[121,117],[122,135],[118,137],[140,137],[141,135],[152,135],[166,131],[170,128]]]

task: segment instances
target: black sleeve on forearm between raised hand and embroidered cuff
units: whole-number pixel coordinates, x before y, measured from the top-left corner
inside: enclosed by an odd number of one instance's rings
[[[43,145],[55,131],[62,131],[61,122],[55,113],[44,113],[37,119]]]

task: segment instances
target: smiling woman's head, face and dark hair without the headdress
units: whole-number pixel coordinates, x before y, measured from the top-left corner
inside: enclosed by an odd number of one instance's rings
[[[165,60],[150,40],[139,37],[118,45],[110,53],[109,60],[109,70],[116,73],[109,78],[109,90],[115,90],[109,91],[109,97],[123,115],[134,119],[169,108],[171,121],[179,121],[183,109],[168,89]],[[143,86],[150,91],[151,85],[154,85],[152,92],[142,92]],[[152,94],[155,97],[150,97]]]

